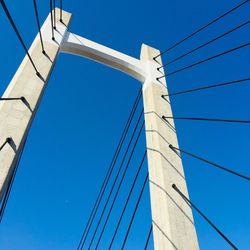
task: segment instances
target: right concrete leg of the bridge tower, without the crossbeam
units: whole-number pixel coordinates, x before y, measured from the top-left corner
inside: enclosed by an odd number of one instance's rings
[[[172,184],[188,196],[181,158],[169,144],[178,146],[173,121],[166,122],[162,116],[172,116],[171,104],[162,95],[168,93],[165,79],[157,67],[161,58],[153,59],[160,52],[143,45],[141,60],[146,64],[148,79],[143,86],[143,100],[148,152],[148,171],[153,223],[153,238],[156,250],[199,249],[192,211],[173,190]]]

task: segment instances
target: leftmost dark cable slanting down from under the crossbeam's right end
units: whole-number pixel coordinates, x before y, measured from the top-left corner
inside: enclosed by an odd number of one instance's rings
[[[115,150],[115,153],[113,155],[112,161],[110,163],[110,166],[108,168],[107,174],[106,174],[106,176],[104,178],[104,181],[102,183],[102,186],[101,186],[101,189],[99,191],[98,197],[97,197],[97,199],[95,201],[95,205],[92,208],[92,211],[91,211],[91,214],[89,216],[88,222],[87,222],[87,224],[86,224],[86,226],[84,228],[84,232],[82,234],[81,240],[80,240],[78,248],[77,248],[78,250],[82,249],[81,245],[83,245],[85,243],[87,234],[88,234],[88,232],[89,232],[89,230],[90,230],[90,228],[92,226],[92,223],[93,223],[94,218],[96,216],[96,213],[98,211],[99,205],[100,205],[100,203],[102,201],[103,195],[104,195],[104,193],[106,191],[106,188],[107,188],[107,185],[109,183],[110,177],[111,177],[111,175],[113,173],[113,170],[114,170],[114,167],[115,167],[118,155],[120,154],[122,145],[123,145],[123,143],[125,141],[127,133],[128,133],[129,128],[131,126],[131,123],[132,123],[132,120],[134,118],[135,112],[137,110],[137,107],[138,107],[139,101],[141,99],[141,96],[142,96],[142,92],[141,92],[141,89],[140,89],[139,92],[138,92],[138,94],[137,94],[137,97],[136,97],[136,99],[134,101],[133,107],[132,107],[132,109],[130,111],[129,117],[128,117],[127,122],[126,122],[126,125],[124,127],[123,132],[122,132],[122,136],[121,136],[121,138],[119,140],[119,143],[118,143],[117,148]]]

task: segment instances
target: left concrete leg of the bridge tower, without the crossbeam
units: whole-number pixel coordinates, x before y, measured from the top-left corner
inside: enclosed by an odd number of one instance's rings
[[[49,76],[55,64],[60,44],[67,32],[71,14],[63,11],[63,23],[59,21],[60,10],[56,9],[55,41],[52,40],[51,18],[47,17],[41,30],[46,55],[42,54],[39,36],[35,38],[29,53],[41,76],[37,76],[29,59],[25,56],[2,97],[24,97],[23,100],[0,102],[0,145],[11,138],[0,151],[0,201],[8,185],[22,144],[30,129]],[[35,20],[34,20],[35,22]],[[39,143],[39,142],[38,142]]]

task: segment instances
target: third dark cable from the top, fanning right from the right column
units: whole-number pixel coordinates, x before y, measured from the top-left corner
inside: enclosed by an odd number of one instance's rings
[[[174,74],[179,73],[179,72],[181,72],[181,71],[184,71],[184,70],[186,70],[186,69],[190,69],[190,68],[192,68],[192,67],[194,67],[194,66],[197,66],[197,65],[202,64],[202,63],[204,63],[204,62],[213,60],[213,59],[218,58],[218,57],[220,57],[220,56],[224,56],[224,55],[229,54],[229,53],[231,53],[231,52],[234,52],[234,51],[236,51],[236,50],[243,49],[243,48],[245,48],[245,47],[247,47],[247,46],[249,46],[249,45],[250,45],[250,42],[241,44],[241,45],[239,45],[239,46],[237,46],[237,47],[234,47],[234,48],[229,49],[229,50],[227,50],[227,51],[224,51],[224,52],[222,52],[222,53],[216,54],[216,55],[214,55],[214,56],[211,56],[211,57],[208,57],[208,58],[203,59],[203,60],[201,60],[201,61],[198,61],[198,62],[196,62],[196,63],[193,63],[193,64],[191,64],[191,65],[185,66],[185,67],[183,67],[183,68],[181,68],[181,69],[178,69],[178,70],[175,70],[175,71],[173,71],[173,72],[170,72],[170,73],[167,74],[167,75],[163,75],[163,76],[157,77],[157,80],[160,80],[160,79],[164,78],[165,76],[171,76],[171,75],[174,75]]]

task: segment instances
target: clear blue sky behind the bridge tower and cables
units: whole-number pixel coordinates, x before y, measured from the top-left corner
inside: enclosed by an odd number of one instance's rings
[[[63,2],[65,10],[74,15],[70,31],[139,57],[142,43],[164,50],[240,1]],[[48,15],[48,3],[38,1],[42,22]],[[6,4],[29,47],[37,33],[32,1],[6,0]],[[249,13],[248,4],[174,49],[164,56],[164,61],[246,21]],[[2,94],[24,51],[2,10],[0,20]],[[241,29],[173,64],[169,71],[249,42],[249,37],[250,28]],[[169,90],[249,77],[249,57],[247,48],[176,74],[168,79]],[[59,56],[0,225],[0,249],[76,249],[139,87],[140,83],[113,69],[83,58]],[[244,83],[173,97],[173,113],[176,116],[249,119],[249,93],[250,84]],[[180,147],[250,175],[249,125],[176,121],[176,127]],[[143,135],[133,160],[135,166],[144,148]],[[191,199],[239,249],[249,249],[249,183],[186,156],[183,162]],[[131,170],[123,194],[133,174]],[[141,182],[142,178],[139,185]],[[150,224],[148,188],[141,205],[128,249],[142,249],[145,242]],[[113,218],[117,209],[119,206]],[[131,209],[130,205],[125,224],[130,219]],[[194,217],[202,250],[230,249],[195,212]],[[102,246],[113,230],[111,222]],[[117,249],[122,233],[124,230],[116,239]]]

